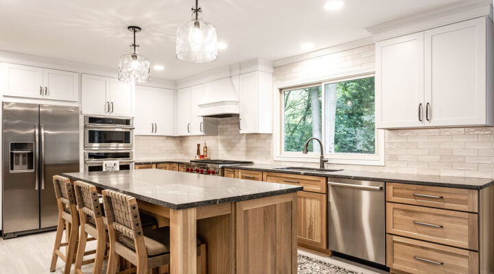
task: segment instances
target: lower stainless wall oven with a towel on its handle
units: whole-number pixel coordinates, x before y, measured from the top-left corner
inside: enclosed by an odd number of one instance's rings
[[[84,151],[84,171],[103,171],[103,164],[106,161],[117,161],[121,171],[132,170],[133,155],[132,151]]]

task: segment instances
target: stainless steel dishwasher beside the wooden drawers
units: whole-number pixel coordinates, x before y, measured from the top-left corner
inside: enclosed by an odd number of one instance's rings
[[[328,249],[386,264],[384,182],[328,179]]]

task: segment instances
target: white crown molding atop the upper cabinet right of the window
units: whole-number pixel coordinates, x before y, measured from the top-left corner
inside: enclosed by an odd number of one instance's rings
[[[366,27],[374,41],[385,40],[481,16],[493,18],[492,0],[458,1],[439,8]]]

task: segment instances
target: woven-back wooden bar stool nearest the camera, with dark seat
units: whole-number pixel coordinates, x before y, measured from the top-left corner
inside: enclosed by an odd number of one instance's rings
[[[103,190],[102,193],[110,236],[110,257],[106,273],[116,272],[119,256],[137,266],[137,274],[148,273],[148,269],[169,264],[169,227],[143,231],[134,197],[113,190]],[[200,273],[206,273],[206,245],[199,239],[197,245]]]

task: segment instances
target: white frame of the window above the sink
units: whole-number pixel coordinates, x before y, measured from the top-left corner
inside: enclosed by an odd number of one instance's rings
[[[305,88],[308,86],[322,87],[322,142],[325,141],[325,84],[344,82],[352,79],[375,77],[375,71],[369,69],[358,69],[346,73],[335,73],[313,79],[300,79],[291,82],[283,82],[274,86],[274,160],[283,162],[319,162],[320,153],[307,153],[284,151],[285,127],[284,127],[284,101],[283,92],[289,89]],[[384,129],[376,129],[375,154],[362,153],[324,153],[329,164],[360,164],[384,166]],[[313,141],[314,142],[314,141]],[[316,141],[317,142],[317,141]],[[318,144],[314,144],[318,145]]]

